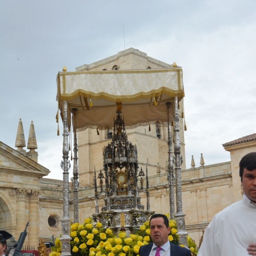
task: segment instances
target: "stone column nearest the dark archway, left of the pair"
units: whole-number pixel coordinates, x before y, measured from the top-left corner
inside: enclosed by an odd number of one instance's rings
[[[17,215],[16,215],[16,235],[15,239],[20,237],[20,233],[24,231],[26,227],[26,206],[25,200],[28,191],[26,189],[16,189],[16,204],[17,204]]]

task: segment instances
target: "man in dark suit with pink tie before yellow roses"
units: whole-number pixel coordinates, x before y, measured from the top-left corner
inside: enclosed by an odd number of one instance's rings
[[[140,256],[191,256],[190,250],[169,241],[170,227],[166,215],[152,215],[149,228],[153,243],[140,247]]]

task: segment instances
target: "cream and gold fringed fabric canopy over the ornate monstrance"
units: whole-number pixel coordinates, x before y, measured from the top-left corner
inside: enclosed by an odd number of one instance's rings
[[[76,108],[78,130],[111,128],[117,103],[122,104],[126,128],[165,123],[166,102],[184,96],[181,67],[59,72],[57,86],[61,114],[63,102],[67,101],[70,125],[70,113]]]

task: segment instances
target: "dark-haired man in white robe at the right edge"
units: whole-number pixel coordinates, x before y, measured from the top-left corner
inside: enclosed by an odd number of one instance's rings
[[[214,216],[198,256],[256,256],[256,152],[241,159],[239,176],[242,200]]]

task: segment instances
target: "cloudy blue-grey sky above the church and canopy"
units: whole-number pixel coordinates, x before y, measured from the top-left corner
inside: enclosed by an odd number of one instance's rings
[[[183,68],[186,164],[230,160],[256,133],[255,0],[0,1],[0,140],[35,124],[38,162],[61,178],[56,76],[133,47]],[[62,131],[62,126],[60,126]]]

